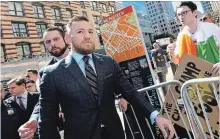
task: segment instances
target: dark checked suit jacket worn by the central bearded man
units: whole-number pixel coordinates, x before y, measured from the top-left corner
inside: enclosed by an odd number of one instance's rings
[[[40,85],[40,139],[59,138],[55,118],[59,103],[65,115],[65,139],[90,139],[98,123],[105,125],[110,139],[123,139],[121,121],[115,108],[117,85],[123,90],[122,96],[145,116],[149,117],[155,110],[125,79],[111,57],[93,54],[93,61],[98,76],[98,102],[72,55],[44,69]]]

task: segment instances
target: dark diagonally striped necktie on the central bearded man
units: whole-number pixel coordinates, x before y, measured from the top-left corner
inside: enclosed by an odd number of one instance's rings
[[[89,83],[89,86],[92,89],[93,95],[95,96],[96,100],[98,99],[98,80],[95,71],[93,70],[92,66],[89,64],[89,56],[84,56],[83,60],[85,62],[85,73],[86,79]]]

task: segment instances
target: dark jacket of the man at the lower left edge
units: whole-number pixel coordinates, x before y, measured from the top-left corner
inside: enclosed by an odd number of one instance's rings
[[[18,135],[18,128],[27,122],[31,116],[31,113],[34,109],[34,106],[38,102],[39,94],[30,94],[28,93],[27,98],[27,109],[23,110],[17,104],[15,96],[11,96],[6,100],[6,103],[9,103],[11,109],[13,109],[14,114],[8,114],[9,106],[2,104],[2,115],[1,115],[1,133],[2,139],[20,139]]]

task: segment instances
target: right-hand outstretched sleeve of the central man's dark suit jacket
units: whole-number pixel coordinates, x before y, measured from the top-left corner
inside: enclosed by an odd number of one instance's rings
[[[143,113],[147,118],[150,118],[150,114],[156,110],[150,102],[148,102],[141,93],[139,93],[133,85],[125,78],[119,65],[114,61],[116,83],[120,90],[122,91],[122,96],[138,111]]]

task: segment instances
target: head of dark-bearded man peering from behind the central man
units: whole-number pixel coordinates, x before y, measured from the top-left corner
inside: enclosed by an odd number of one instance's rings
[[[45,30],[43,41],[47,51],[51,55],[60,57],[68,50],[68,45],[64,37],[64,31],[58,27],[50,27]]]

